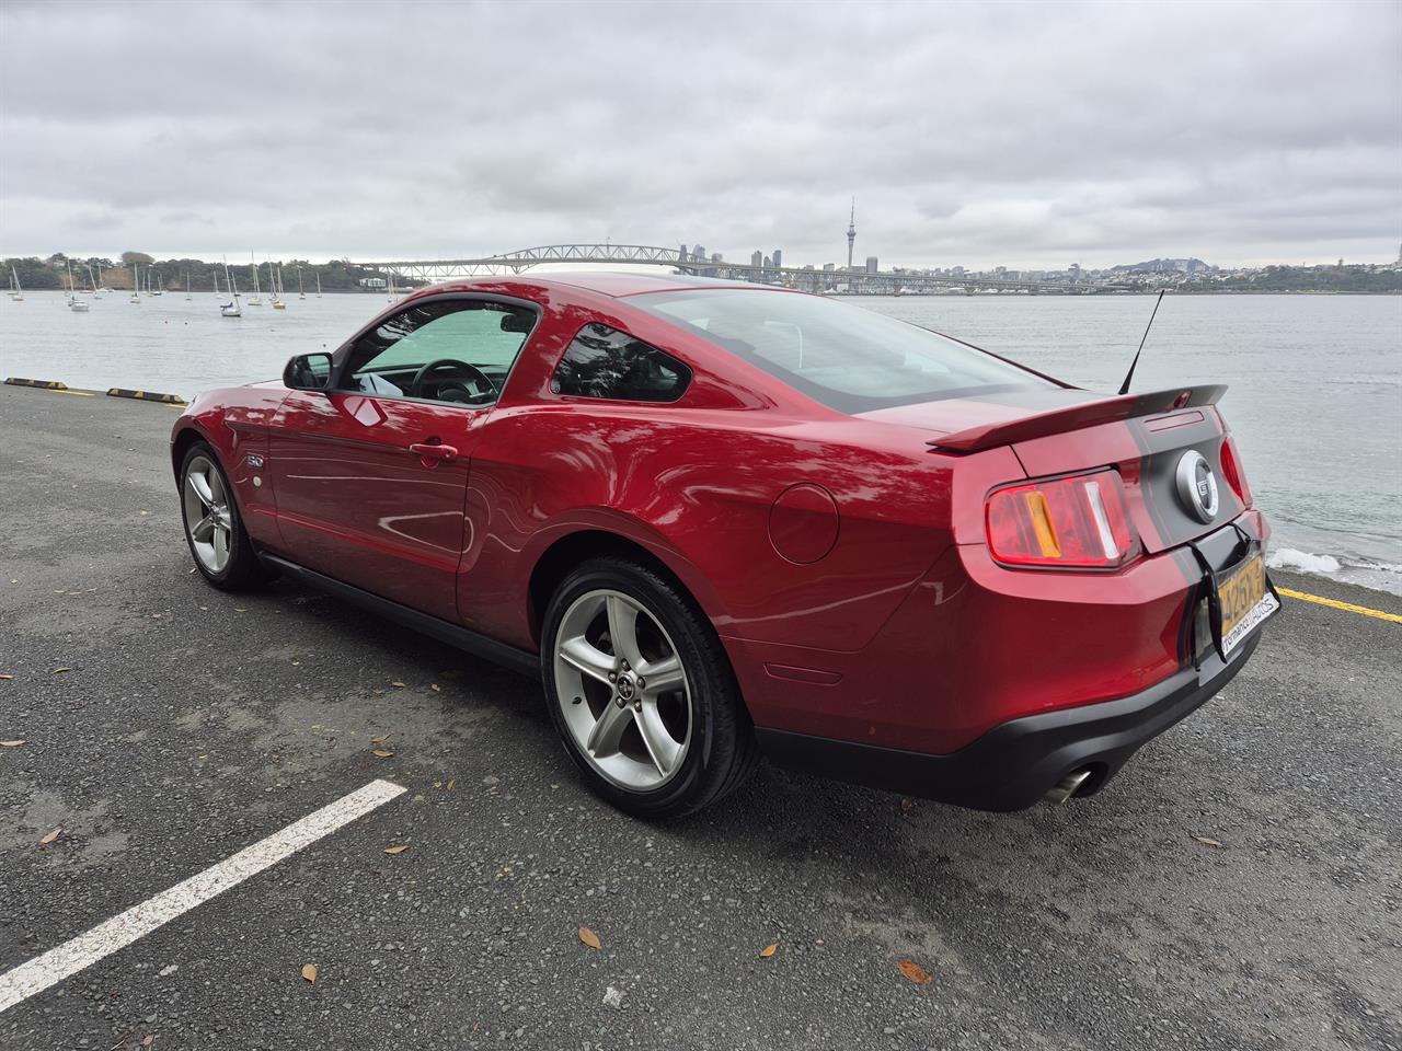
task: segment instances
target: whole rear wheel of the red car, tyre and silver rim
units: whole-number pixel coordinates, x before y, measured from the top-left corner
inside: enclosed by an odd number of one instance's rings
[[[572,572],[545,612],[551,719],[593,789],[639,817],[728,795],[757,746],[721,640],[676,583],[621,558]]]

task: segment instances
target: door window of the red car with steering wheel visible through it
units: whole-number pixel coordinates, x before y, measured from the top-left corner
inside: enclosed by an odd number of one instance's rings
[[[366,332],[350,349],[345,385],[365,394],[489,405],[536,311],[505,303],[418,303]]]

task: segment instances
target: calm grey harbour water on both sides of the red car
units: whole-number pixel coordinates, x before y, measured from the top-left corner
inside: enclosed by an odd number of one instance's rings
[[[335,349],[384,294],[287,298],[222,318],[210,291],[130,304],[60,293],[0,301],[0,374],[191,397],[280,374]],[[847,300],[1113,392],[1152,310],[1147,296],[903,296]],[[1225,383],[1276,565],[1402,593],[1402,297],[1178,296],[1164,300],[1134,388]]]

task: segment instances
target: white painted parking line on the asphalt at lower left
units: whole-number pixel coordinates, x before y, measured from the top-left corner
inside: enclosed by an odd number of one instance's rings
[[[388,803],[402,792],[404,788],[388,781],[372,781],[349,796],[342,796],[314,814],[293,821],[280,832],[273,832],[266,839],[240,851],[233,858],[226,858],[202,873],[177,883],[170,890],[163,890],[156,897],[133,905],[105,923],[98,923],[86,935],[79,935],[57,949],[50,949],[43,956],[36,956],[28,963],[0,974],[0,1013],[77,974],[102,957],[125,949],[182,912],[223,894],[230,887],[237,887],[250,876],[257,876],[303,846],[314,844],[362,814]]]

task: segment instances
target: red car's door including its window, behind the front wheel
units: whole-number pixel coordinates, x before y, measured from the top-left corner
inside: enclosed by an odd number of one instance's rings
[[[286,556],[456,621],[467,475],[538,311],[433,297],[336,355],[331,391],[293,391],[269,429]]]

